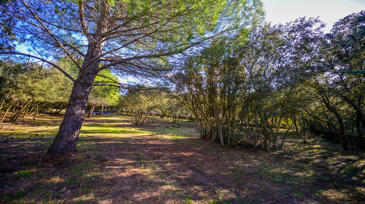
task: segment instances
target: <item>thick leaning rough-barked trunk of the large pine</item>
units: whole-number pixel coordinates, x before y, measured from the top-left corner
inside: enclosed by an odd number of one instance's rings
[[[83,9],[81,1],[80,9]],[[111,7],[106,1],[99,4],[100,20],[96,31],[88,34],[88,50],[84,57],[84,62],[79,70],[77,79],[73,83],[73,90],[66,107],[65,117],[59,126],[58,133],[51,146],[48,148],[48,154],[61,154],[75,150],[81,125],[85,117],[86,103],[89,100],[89,94],[92,83],[98,73],[100,56],[105,45],[105,32],[108,28],[113,27],[110,21]],[[88,33],[87,27],[82,23],[84,32]]]

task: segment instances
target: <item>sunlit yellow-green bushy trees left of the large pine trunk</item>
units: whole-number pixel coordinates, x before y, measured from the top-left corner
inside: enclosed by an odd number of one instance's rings
[[[2,61],[0,65],[0,110],[12,108],[9,122],[21,114],[35,114],[45,107],[62,110],[67,104],[72,84],[55,68],[41,68],[38,64]]]

